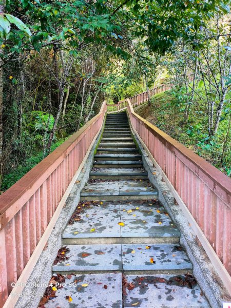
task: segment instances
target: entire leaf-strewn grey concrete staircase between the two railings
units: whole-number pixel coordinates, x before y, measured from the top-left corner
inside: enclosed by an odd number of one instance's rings
[[[66,286],[45,307],[209,307],[179,239],[148,181],[126,113],[107,115],[90,180],[53,265]]]

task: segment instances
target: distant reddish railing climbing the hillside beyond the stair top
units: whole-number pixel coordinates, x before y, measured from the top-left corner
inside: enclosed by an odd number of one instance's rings
[[[150,89],[149,90],[150,97],[152,97],[155,94],[170,90],[173,85],[174,84],[172,82],[168,82],[166,84]],[[133,97],[130,97],[129,100],[133,107],[140,106],[140,104],[143,104],[148,100],[147,91],[133,95]],[[127,100],[122,100],[119,101],[118,104],[108,104],[107,112],[112,113],[112,112],[122,111],[125,110],[126,108],[127,108]]]

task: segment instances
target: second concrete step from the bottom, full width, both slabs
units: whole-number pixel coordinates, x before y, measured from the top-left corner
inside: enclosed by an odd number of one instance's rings
[[[150,247],[150,248],[146,248]],[[176,244],[67,245],[67,260],[52,266],[53,272],[148,271],[190,272],[191,262]],[[174,257],[172,257],[174,255]],[[151,258],[153,262],[151,262]]]

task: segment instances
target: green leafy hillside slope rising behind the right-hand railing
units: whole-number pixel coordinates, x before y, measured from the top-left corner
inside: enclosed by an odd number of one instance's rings
[[[155,95],[151,98],[151,102],[151,106],[145,103],[134,108],[135,112],[206,159],[227,176],[231,175],[230,136],[228,136],[222,159],[226,137],[225,128],[227,128],[226,121],[220,123],[215,137],[208,136],[206,129],[204,129],[207,119],[203,105],[198,103],[194,106],[190,111],[188,123],[184,124],[183,108],[181,109],[180,103],[170,91]]]

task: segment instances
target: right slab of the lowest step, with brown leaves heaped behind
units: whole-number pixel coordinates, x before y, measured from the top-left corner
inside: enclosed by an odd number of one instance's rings
[[[209,308],[199,285],[185,275],[126,275],[123,278],[124,307]],[[192,288],[190,287],[192,284]],[[132,289],[132,290],[131,290]]]

